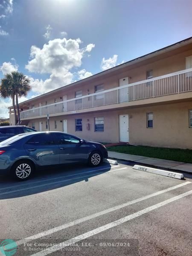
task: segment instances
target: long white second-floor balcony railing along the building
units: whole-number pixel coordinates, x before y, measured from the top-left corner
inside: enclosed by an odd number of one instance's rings
[[[192,68],[158,76],[152,79],[116,87],[99,93],[81,96],[78,99],[32,108],[20,113],[20,118],[65,113],[105,105],[131,102],[192,91]]]

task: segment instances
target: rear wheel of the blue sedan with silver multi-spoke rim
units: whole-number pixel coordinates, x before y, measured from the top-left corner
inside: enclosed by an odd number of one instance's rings
[[[12,176],[17,180],[27,180],[32,176],[33,171],[33,164],[28,160],[22,160],[12,167]]]

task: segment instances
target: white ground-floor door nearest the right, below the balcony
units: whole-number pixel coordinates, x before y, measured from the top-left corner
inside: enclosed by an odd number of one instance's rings
[[[129,116],[119,116],[119,141],[129,142]]]

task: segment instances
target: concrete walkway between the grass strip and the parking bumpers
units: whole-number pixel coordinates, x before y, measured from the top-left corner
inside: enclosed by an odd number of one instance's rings
[[[164,160],[153,157],[143,157],[132,154],[124,154],[113,151],[108,151],[109,158],[115,158],[119,160],[126,160],[140,163],[141,165],[150,165],[158,168],[172,169],[177,171],[183,171],[192,173],[192,163],[176,162],[171,160]]]

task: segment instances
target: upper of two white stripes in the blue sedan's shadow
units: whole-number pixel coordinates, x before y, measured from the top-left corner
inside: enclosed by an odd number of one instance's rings
[[[116,165],[116,166],[110,166],[111,168],[116,168],[116,167],[120,167],[119,165]],[[74,174],[70,174],[70,175],[63,175],[63,176],[59,176],[59,177],[55,177],[55,178],[50,178],[50,179],[39,179],[37,181],[33,181],[33,182],[23,182],[22,184],[19,184],[19,185],[15,185],[15,186],[8,186],[8,187],[4,187],[4,188],[1,188],[0,190],[2,189],[12,189],[12,188],[16,188],[16,187],[21,187],[21,186],[29,186],[29,185],[32,185],[32,184],[36,184],[36,183],[39,183],[39,182],[44,182],[44,181],[49,181],[49,180],[57,180],[57,179],[62,179],[62,178],[65,178],[65,177],[73,177],[73,176],[76,176],[76,175],[79,175],[79,174],[85,174],[85,173],[90,173],[90,172],[97,172],[97,171],[102,171],[102,170],[107,170],[109,169],[110,167],[105,167],[105,168],[100,168],[100,169],[93,169],[91,171],[85,171],[85,172],[77,172],[77,173],[74,173]],[[110,170],[109,170],[110,171]]]

